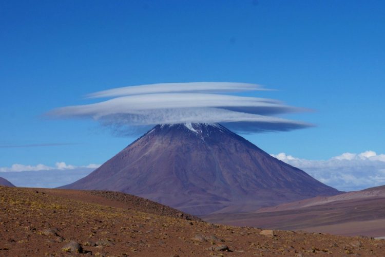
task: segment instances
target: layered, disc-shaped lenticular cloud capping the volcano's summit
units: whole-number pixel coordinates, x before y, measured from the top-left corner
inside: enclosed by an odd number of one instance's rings
[[[260,85],[230,82],[161,83],[99,91],[89,98],[111,98],[67,106],[56,117],[91,118],[116,131],[156,124],[221,123],[243,133],[290,131],[311,124],[276,117],[306,109],[266,98],[234,96],[240,91],[269,90]]]

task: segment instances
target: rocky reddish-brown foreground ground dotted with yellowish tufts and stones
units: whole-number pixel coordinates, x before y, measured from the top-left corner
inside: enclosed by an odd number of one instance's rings
[[[383,240],[214,225],[119,193],[0,187],[0,256],[383,256],[384,252]]]

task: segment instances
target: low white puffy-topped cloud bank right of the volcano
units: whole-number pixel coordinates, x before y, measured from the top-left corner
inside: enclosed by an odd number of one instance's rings
[[[373,151],[343,153],[328,160],[307,160],[285,153],[272,156],[342,191],[385,185],[385,154]]]

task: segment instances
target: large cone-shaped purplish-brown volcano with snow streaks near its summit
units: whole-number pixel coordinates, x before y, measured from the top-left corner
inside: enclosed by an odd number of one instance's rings
[[[220,124],[157,125],[64,189],[120,191],[204,215],[340,193]]]

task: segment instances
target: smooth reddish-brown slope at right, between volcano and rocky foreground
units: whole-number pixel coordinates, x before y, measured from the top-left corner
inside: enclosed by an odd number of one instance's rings
[[[315,197],[255,212],[212,214],[205,221],[237,226],[385,236],[385,186]]]

